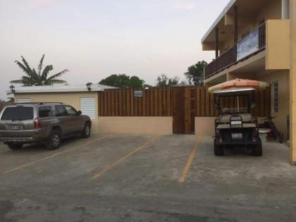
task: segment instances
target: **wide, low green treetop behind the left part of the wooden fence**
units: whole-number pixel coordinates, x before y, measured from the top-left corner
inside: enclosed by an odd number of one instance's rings
[[[144,87],[145,81],[133,75],[128,76],[125,74],[113,74],[99,82],[101,85],[109,85],[112,87],[125,88],[125,87]]]

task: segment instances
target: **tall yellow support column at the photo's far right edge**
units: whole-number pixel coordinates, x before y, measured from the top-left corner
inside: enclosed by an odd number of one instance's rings
[[[290,163],[296,164],[296,0],[290,0]]]

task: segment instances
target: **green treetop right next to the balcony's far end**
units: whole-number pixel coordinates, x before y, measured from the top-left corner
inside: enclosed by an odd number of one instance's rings
[[[184,73],[187,81],[193,85],[203,85],[204,67],[207,64],[206,61],[199,61],[195,65],[188,67],[187,72]]]

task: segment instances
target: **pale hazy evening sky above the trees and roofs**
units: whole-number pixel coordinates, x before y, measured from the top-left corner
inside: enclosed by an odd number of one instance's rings
[[[228,0],[0,0],[0,99],[10,80],[31,67],[68,68],[69,84],[99,82],[111,74],[137,75],[154,85],[197,61],[211,61],[201,39]]]

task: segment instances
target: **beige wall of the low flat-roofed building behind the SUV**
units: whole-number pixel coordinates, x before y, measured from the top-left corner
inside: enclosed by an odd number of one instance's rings
[[[80,98],[91,97],[96,99],[96,107],[98,107],[98,93],[97,92],[50,92],[50,93],[25,93],[15,94],[15,101],[20,98],[31,99],[32,102],[46,102],[56,101],[63,102],[73,106],[78,111],[80,110]],[[96,118],[92,120],[92,132],[99,132],[98,129],[98,109],[96,109]]]

